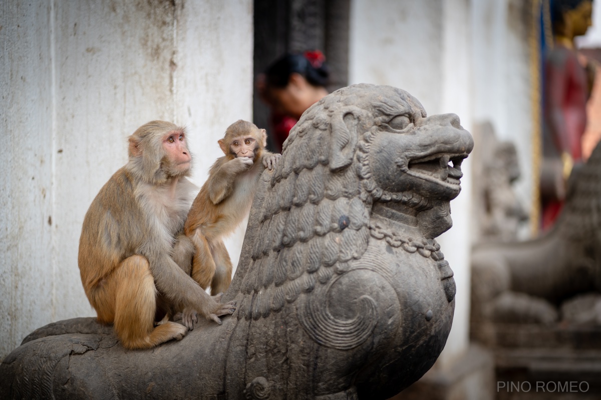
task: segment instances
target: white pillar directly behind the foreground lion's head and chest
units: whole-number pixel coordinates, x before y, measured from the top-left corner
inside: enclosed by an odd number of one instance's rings
[[[349,83],[391,85],[418,98],[429,115],[456,113],[472,124],[468,0],[353,0]],[[471,173],[462,165],[462,193],[451,202],[453,228],[439,239],[457,284],[453,329],[439,363],[469,343],[469,215]]]

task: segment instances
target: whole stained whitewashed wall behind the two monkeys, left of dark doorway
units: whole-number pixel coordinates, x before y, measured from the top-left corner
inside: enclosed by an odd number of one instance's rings
[[[37,327],[95,315],[81,224],[139,125],[188,127],[204,182],[225,128],[252,118],[252,29],[252,0],[0,2],[0,359]]]

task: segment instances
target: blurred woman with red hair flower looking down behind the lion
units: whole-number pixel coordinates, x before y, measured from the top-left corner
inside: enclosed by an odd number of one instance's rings
[[[286,54],[258,76],[260,98],[271,110],[272,151],[282,151],[288,133],[302,113],[328,94],[325,87],[328,80],[326,58],[319,50]]]

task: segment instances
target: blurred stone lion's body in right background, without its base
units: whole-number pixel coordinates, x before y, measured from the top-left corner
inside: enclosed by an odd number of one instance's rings
[[[601,146],[570,176],[551,231],[519,243],[480,245],[472,254],[472,333],[486,323],[558,322],[561,303],[601,290]],[[586,302],[575,305],[582,309]],[[594,308],[594,302],[588,305]],[[571,307],[569,309],[576,310]],[[582,312],[587,312],[582,309]],[[563,315],[564,326],[595,320]],[[583,319],[584,318],[584,319]],[[489,329],[490,330],[490,329]],[[482,331],[481,333],[485,333]],[[481,338],[484,342],[485,337]]]

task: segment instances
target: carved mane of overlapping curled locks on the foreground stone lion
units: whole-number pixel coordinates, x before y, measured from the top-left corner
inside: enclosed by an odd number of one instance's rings
[[[240,287],[238,318],[267,317],[346,272],[367,249],[373,200],[429,207],[416,195],[386,193],[371,179],[367,156],[377,127],[374,115],[356,104],[368,100],[377,115],[391,115],[385,101],[408,103],[410,96],[387,87],[386,96],[361,99],[365,86],[372,85],[339,89],[311,106],[284,142],[258,211],[261,226]],[[349,128],[344,118],[350,114],[358,122]]]

